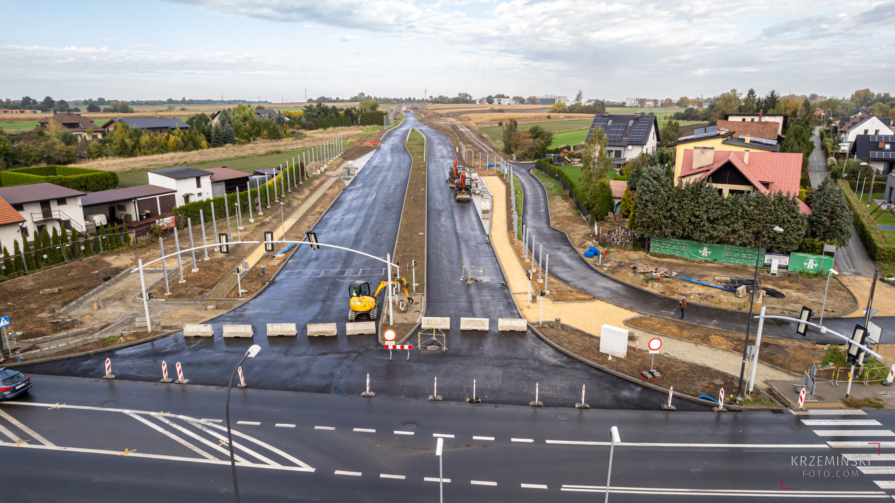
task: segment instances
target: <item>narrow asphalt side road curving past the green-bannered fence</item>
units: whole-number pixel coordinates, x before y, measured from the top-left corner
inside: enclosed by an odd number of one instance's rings
[[[524,209],[522,221],[534,235],[534,246],[540,250],[543,245],[544,255],[550,254],[550,275],[557,277],[569,286],[575,286],[598,299],[625,307],[632,311],[659,316],[662,318],[677,319],[680,316],[678,300],[668,299],[659,295],[650,294],[626,285],[611,277],[605,276],[594,270],[584,258],[569,243],[565,233],[550,226],[550,207],[547,202],[547,193],[544,186],[530,170],[534,163],[513,163],[513,174],[522,183],[525,194],[523,199]],[[531,245],[529,250],[531,250]],[[761,311],[761,306],[756,306],[755,314]],[[719,328],[741,332],[746,329],[747,312],[725,311],[712,307],[688,304],[686,307],[685,321],[702,325],[703,327]],[[874,323],[882,327],[882,343],[895,343],[895,317],[874,317]],[[756,321],[750,333],[755,334]],[[861,323],[860,318],[829,318],[824,317],[823,325],[840,334],[851,334],[856,323]],[[764,323],[763,334],[774,337],[799,338],[796,334],[796,326],[783,320],[767,320]],[[808,331],[808,337],[821,344],[842,344],[842,339],[829,334],[821,334],[814,328]]]

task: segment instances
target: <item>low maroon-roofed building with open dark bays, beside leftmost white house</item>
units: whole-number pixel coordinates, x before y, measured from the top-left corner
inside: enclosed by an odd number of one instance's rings
[[[102,213],[107,221],[136,222],[170,214],[175,207],[176,191],[158,185],[137,185],[124,189],[90,192],[81,196],[84,215]]]

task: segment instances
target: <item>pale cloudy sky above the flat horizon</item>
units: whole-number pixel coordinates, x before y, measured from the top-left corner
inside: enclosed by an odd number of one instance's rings
[[[42,0],[4,14],[0,98],[895,92],[895,2]]]

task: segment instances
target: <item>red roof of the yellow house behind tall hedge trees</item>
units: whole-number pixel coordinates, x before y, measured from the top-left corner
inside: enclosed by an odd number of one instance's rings
[[[749,152],[749,163],[743,160],[746,152],[715,150],[712,164],[693,167],[693,149],[684,150],[684,159],[680,169],[680,177],[697,175],[698,179],[712,175],[721,166],[730,164],[746,176],[755,190],[764,194],[783,192],[792,196],[798,195],[798,187],[802,177],[802,154],[788,152]],[[763,183],[768,183],[765,188]],[[811,214],[803,201],[798,201],[803,213]]]

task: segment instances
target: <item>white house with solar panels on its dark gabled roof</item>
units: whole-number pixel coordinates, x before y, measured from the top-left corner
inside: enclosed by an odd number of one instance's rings
[[[617,167],[659,148],[659,121],[655,115],[597,114],[591,131],[587,132],[587,141],[591,141],[598,127],[606,133],[609,140],[606,151]]]

